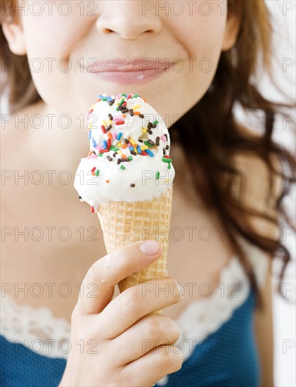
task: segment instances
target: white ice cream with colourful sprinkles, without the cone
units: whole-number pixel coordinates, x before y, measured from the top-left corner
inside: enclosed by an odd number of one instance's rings
[[[141,96],[100,95],[89,110],[88,129],[90,152],[74,186],[92,212],[107,201],[151,201],[172,186],[167,126]]]

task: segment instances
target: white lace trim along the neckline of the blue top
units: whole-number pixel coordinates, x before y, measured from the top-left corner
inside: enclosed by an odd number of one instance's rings
[[[258,248],[242,242],[252,263],[259,286],[264,283],[268,260]],[[220,274],[219,284],[209,298],[192,301],[176,319],[181,335],[175,344],[186,360],[195,346],[217,331],[231,318],[234,310],[243,305],[250,284],[236,256]],[[70,324],[54,317],[47,307],[33,308],[18,305],[5,293],[1,297],[1,335],[13,343],[21,343],[30,350],[48,357],[67,359],[70,352]],[[157,383],[167,383],[167,376]]]

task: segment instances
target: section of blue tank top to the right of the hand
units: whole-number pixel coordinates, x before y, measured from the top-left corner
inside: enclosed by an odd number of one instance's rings
[[[167,377],[161,386],[256,387],[260,370],[253,311],[252,291],[233,316],[218,331],[196,345],[182,368]],[[155,384],[155,386],[160,386]]]

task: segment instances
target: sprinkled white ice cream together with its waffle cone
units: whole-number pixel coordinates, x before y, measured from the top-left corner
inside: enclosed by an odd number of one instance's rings
[[[175,175],[169,131],[139,94],[99,94],[87,120],[90,150],[74,186],[79,200],[98,213],[107,252],[148,239],[163,249],[152,265],[120,281],[122,293],[165,277]]]

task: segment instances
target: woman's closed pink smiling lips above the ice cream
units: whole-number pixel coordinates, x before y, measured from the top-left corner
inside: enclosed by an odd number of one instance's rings
[[[159,77],[169,71],[169,60],[160,58],[141,58],[134,61],[112,60],[97,61],[85,65],[87,72],[92,72],[102,80],[116,84],[139,84]]]

